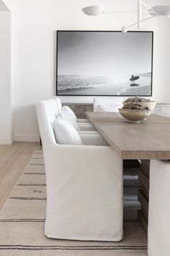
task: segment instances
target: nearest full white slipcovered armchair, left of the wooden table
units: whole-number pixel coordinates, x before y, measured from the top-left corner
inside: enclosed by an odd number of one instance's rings
[[[120,241],[122,160],[99,135],[81,135],[84,145],[59,145],[53,100],[37,103],[36,111],[47,180],[45,235]]]

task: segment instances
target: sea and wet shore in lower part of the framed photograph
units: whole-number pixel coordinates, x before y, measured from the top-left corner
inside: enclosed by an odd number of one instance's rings
[[[151,72],[134,76],[58,75],[58,95],[151,95]]]

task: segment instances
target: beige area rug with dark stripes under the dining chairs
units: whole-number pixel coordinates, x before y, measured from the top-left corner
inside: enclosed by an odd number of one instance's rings
[[[146,234],[133,220],[125,221],[122,242],[48,239],[45,189],[43,155],[36,151],[0,213],[1,256],[147,256]]]

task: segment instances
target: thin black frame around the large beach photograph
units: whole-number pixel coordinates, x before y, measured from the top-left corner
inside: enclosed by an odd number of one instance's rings
[[[148,95],[138,95],[137,94],[126,94],[126,95],[115,95],[115,94],[64,94],[58,93],[58,33],[69,32],[69,33],[122,33],[120,30],[57,30],[56,31],[56,95],[59,96],[117,96],[117,97],[126,97],[126,96],[141,96],[141,97],[151,97],[153,95],[153,31],[128,31],[127,33],[151,33],[151,93]]]

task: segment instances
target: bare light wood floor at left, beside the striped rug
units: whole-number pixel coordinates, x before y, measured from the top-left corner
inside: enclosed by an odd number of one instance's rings
[[[14,142],[12,145],[0,145],[0,210],[35,150],[41,149],[40,143],[37,142]]]

